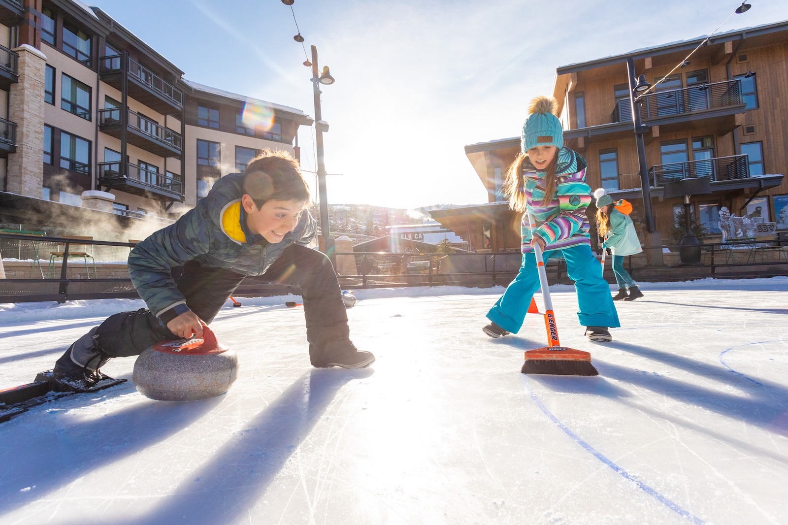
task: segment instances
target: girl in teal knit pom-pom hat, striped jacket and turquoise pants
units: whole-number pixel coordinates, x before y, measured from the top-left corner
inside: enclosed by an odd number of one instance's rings
[[[522,128],[521,153],[507,170],[504,192],[509,207],[522,216],[522,266],[504,295],[487,313],[490,337],[518,333],[533,293],[539,289],[533,245],[540,244],[547,263],[559,254],[567,262],[567,274],[578,294],[580,324],[591,341],[611,341],[608,328],[619,325],[610,286],[600,275],[599,262],[591,251],[589,222],[585,210],[591,188],[585,184],[585,159],[563,146],[563,128],[556,117],[558,102],[537,97],[529,107]],[[528,212],[536,227],[531,235]]]

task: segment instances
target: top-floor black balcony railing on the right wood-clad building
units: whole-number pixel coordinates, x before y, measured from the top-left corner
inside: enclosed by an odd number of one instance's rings
[[[704,110],[719,110],[741,106],[742,83],[739,79],[711,84],[698,84],[682,89],[656,91],[640,99],[641,120],[693,114]],[[632,121],[630,99],[618,99],[611,114],[611,122]]]

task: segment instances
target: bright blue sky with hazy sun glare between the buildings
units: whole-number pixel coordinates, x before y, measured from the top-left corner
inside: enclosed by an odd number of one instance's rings
[[[93,0],[184,77],[314,117],[322,88],[329,203],[421,207],[487,202],[467,144],[519,136],[556,68],[788,20],[785,0]],[[177,20],[173,24],[173,20]],[[296,21],[305,42],[292,39]],[[316,171],[314,132],[299,132]]]

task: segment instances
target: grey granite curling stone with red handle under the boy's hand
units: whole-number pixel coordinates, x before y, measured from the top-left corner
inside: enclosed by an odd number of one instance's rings
[[[160,401],[195,401],[219,396],[238,375],[238,356],[203,326],[203,338],[163,341],[134,362],[139,393]]]

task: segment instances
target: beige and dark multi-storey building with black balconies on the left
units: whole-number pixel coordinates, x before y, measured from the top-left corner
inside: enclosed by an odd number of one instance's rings
[[[262,149],[297,156],[311,124],[186,80],[99,8],[0,0],[0,222],[158,229]]]

